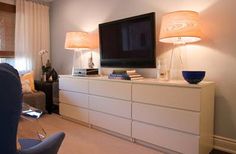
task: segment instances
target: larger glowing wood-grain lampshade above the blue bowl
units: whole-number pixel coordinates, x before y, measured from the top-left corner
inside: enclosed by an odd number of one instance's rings
[[[199,14],[194,11],[176,11],[162,17],[160,42],[191,43],[201,40]]]

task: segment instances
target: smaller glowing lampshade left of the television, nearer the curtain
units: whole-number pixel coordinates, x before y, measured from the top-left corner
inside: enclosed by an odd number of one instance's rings
[[[89,38],[86,32],[67,32],[66,49],[88,49],[89,48]]]

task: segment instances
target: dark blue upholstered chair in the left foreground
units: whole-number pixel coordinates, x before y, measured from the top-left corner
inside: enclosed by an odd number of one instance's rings
[[[20,139],[16,148],[17,127],[22,108],[22,88],[19,74],[12,66],[0,63],[0,154],[56,154],[65,134],[56,133],[41,141]]]

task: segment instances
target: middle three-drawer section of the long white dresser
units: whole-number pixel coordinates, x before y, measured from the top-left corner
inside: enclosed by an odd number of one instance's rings
[[[90,123],[131,136],[131,84],[89,80],[89,94]]]

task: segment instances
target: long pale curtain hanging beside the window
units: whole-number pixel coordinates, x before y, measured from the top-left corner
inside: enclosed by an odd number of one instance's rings
[[[41,74],[39,51],[50,48],[49,6],[31,0],[16,0],[15,67],[20,72]],[[44,64],[50,53],[44,55]]]

